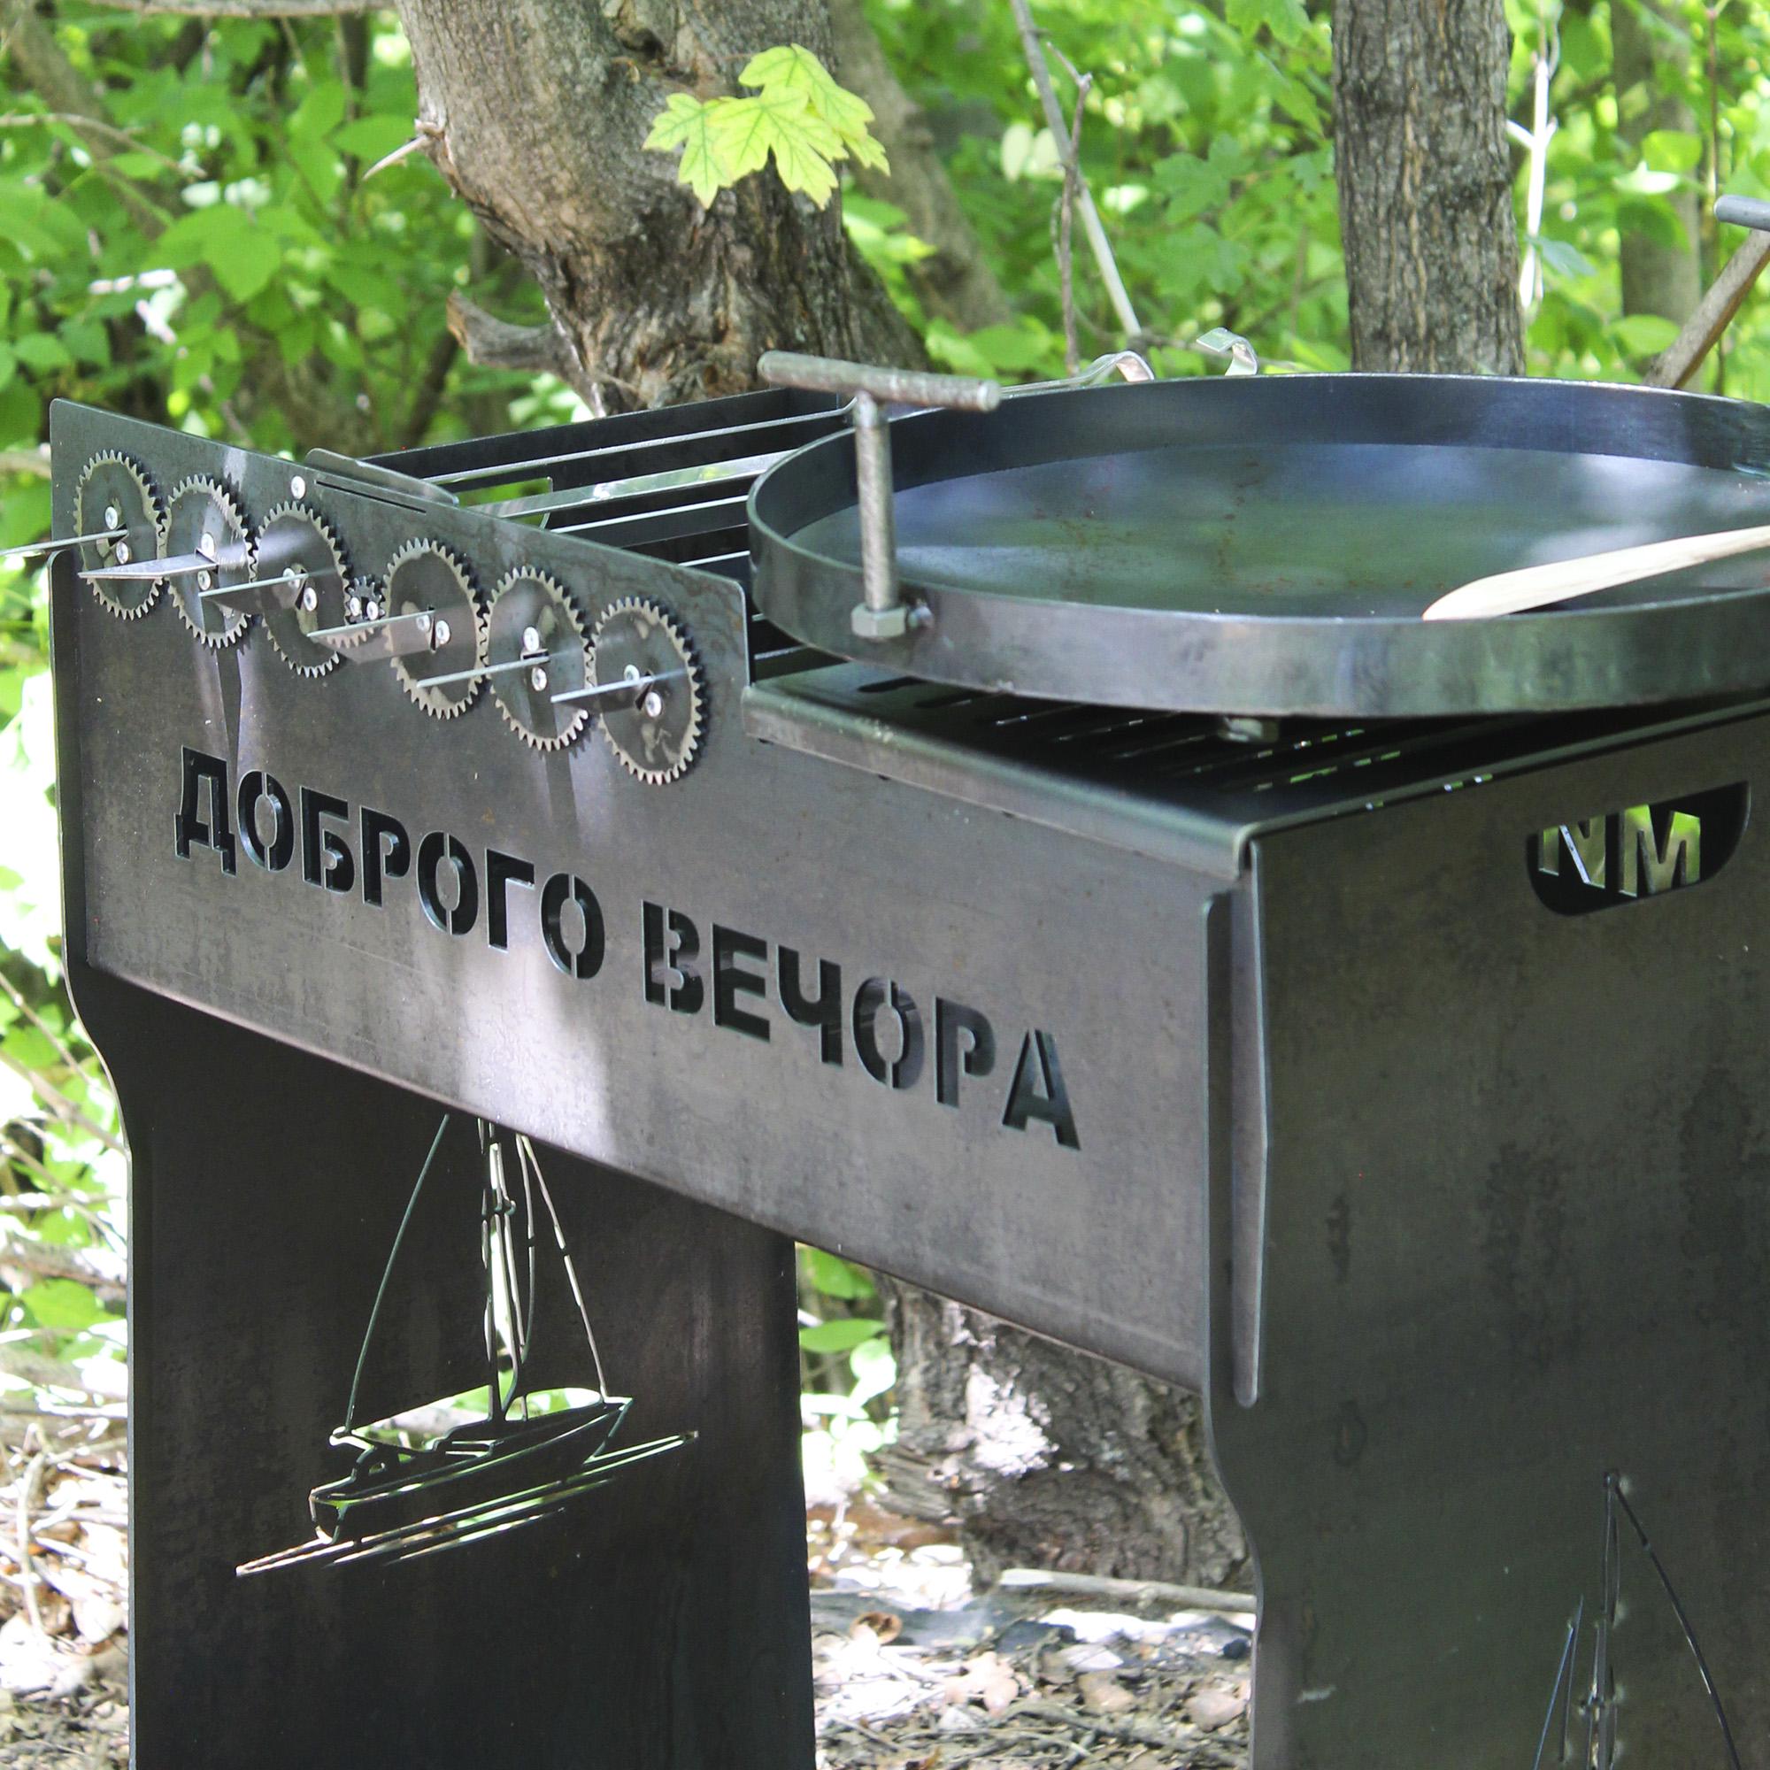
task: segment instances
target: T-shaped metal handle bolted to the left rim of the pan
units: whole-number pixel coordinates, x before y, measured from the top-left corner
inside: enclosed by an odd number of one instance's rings
[[[1243,349],[1246,343],[1235,340]],[[1248,350],[1251,358],[1253,352]],[[929,375],[912,368],[874,368],[827,356],[768,350],[756,365],[777,388],[835,393],[850,400],[855,423],[855,480],[860,494],[860,595],[851,627],[860,639],[901,639],[927,620],[927,611],[906,604],[897,584],[897,535],[892,520],[890,428],[887,405],[943,405],[961,412],[993,412],[1004,398],[1058,388],[1092,388],[1113,372],[1126,381],[1154,381],[1156,372],[1135,350],[1096,358],[1069,381],[1041,381],[1004,389],[997,381],[970,375]],[[1232,370],[1235,373],[1235,370]],[[1246,370],[1243,370],[1246,373]]]

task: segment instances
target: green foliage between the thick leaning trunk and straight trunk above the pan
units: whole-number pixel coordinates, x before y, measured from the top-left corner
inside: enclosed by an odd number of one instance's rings
[[[1060,375],[1062,156],[1009,7],[871,0],[867,11],[936,140],[950,143],[965,211],[1020,313],[968,338],[922,317],[929,352],[963,373]],[[1081,165],[1158,370],[1214,372],[1189,349],[1214,326],[1248,335],[1262,358],[1343,368],[1326,9],[1041,0],[1037,21],[1090,76]],[[1055,53],[1051,71],[1069,106],[1074,83]],[[1083,358],[1122,345],[1080,227],[1074,266]]]

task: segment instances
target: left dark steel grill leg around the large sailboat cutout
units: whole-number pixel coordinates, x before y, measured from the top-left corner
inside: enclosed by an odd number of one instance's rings
[[[136,1770],[809,1770],[791,1243],[543,1150],[635,1397],[620,1441],[699,1439],[446,1554],[239,1579],[310,1538],[308,1490],[343,1473],[327,1432],[439,1108],[76,981],[133,1150]],[[427,1195],[471,1198],[474,1154],[457,1122]],[[389,1290],[402,1405],[466,1388],[441,1374],[451,1306],[480,1304],[460,1253],[414,1214],[395,1280],[437,1278]]]

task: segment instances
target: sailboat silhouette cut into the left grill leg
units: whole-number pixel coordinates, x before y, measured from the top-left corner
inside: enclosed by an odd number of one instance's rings
[[[354,1450],[356,1458],[347,1474],[324,1481],[308,1496],[315,1528],[310,1542],[244,1561],[235,1574],[437,1554],[549,1519],[623,1469],[676,1450],[694,1437],[678,1434],[611,1448],[632,1398],[609,1395],[577,1267],[552,1195],[542,1179],[535,1145],[526,1136],[483,1120],[478,1241],[485,1388],[370,1423],[358,1420],[363,1375],[393,1269],[448,1126],[444,1115],[430,1154],[418,1170],[418,1182],[393,1237],[368,1315],[343,1423],[331,1434],[331,1444]],[[543,1225],[538,1211],[545,1211],[550,1250],[540,1246]],[[464,1223],[464,1234],[469,1230],[471,1220]],[[538,1266],[549,1258],[558,1260],[584,1328],[589,1370],[595,1374],[593,1389],[543,1389],[531,1381]]]

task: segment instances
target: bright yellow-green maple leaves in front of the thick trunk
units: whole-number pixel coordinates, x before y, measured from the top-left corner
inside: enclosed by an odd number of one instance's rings
[[[835,193],[839,161],[887,170],[885,149],[867,129],[873,106],[839,87],[811,50],[796,42],[763,50],[738,83],[758,90],[717,99],[673,92],[646,136],[657,152],[681,149],[678,177],[703,207],[761,172],[770,156],[781,182],[820,209]]]

